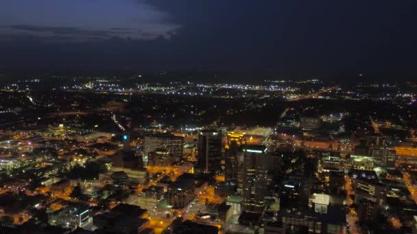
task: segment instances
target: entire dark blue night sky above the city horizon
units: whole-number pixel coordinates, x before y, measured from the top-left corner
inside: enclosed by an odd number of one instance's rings
[[[0,69],[409,80],[416,12],[416,0],[1,0]]]

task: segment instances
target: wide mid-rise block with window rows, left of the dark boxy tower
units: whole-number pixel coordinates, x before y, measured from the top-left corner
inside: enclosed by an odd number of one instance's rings
[[[182,157],[184,138],[170,133],[146,135],[143,140],[143,154],[148,155],[157,148],[165,148],[171,155]]]

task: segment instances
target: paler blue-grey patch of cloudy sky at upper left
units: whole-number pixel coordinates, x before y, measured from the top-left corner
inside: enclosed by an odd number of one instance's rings
[[[76,41],[95,38],[170,38],[180,27],[167,14],[134,0],[0,1],[0,36],[56,36]],[[49,40],[50,41],[50,40]]]

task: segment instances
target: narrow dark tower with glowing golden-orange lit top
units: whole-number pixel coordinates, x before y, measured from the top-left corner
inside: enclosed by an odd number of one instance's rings
[[[239,167],[239,148],[246,144],[245,135],[240,133],[228,133],[226,139],[226,157],[224,177],[226,183],[235,185],[237,183],[237,173]]]

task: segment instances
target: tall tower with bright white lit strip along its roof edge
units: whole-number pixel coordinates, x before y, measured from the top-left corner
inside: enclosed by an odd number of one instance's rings
[[[243,148],[243,209],[262,211],[267,196],[267,147],[251,145]]]

